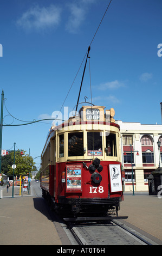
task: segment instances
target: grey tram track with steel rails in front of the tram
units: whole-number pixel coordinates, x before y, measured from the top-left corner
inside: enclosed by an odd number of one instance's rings
[[[82,246],[155,245],[155,243],[147,237],[144,237],[137,233],[137,231],[130,229],[125,224],[116,220],[105,222],[66,223],[66,225],[67,229],[77,241],[77,244]],[[94,230],[98,231],[94,232]]]

